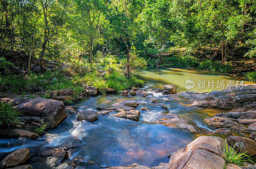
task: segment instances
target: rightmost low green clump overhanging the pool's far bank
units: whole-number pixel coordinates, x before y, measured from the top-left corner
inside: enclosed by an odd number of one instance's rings
[[[216,73],[230,73],[232,66],[229,64],[221,65],[220,61],[205,60],[200,63],[198,69],[206,69]]]

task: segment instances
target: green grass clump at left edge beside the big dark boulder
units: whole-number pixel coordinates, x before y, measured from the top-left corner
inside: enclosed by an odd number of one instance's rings
[[[19,124],[19,117],[21,113],[12,107],[9,103],[0,102],[0,125],[11,126]]]

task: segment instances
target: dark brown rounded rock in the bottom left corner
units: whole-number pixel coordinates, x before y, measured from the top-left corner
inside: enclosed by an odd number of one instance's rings
[[[3,159],[1,162],[1,168],[11,168],[22,165],[29,158],[29,149],[23,148],[16,150]]]

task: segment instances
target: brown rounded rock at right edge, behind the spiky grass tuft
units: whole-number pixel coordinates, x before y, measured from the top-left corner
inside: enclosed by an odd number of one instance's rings
[[[226,137],[228,145],[235,150],[247,151],[246,154],[256,156],[256,142],[250,138],[228,136]]]

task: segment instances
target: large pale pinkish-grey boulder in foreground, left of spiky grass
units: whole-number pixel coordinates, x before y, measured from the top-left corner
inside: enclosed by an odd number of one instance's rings
[[[225,140],[220,137],[200,136],[184,149],[172,153],[166,168],[222,169],[225,160]]]

